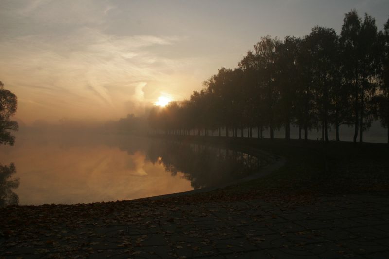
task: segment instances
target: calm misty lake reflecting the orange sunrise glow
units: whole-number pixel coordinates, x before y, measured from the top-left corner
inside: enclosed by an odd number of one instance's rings
[[[0,163],[11,162],[16,167],[13,178],[19,178],[20,185],[10,190],[21,205],[182,192],[233,181],[264,166],[256,157],[237,151],[119,135],[19,134],[15,146],[0,147]],[[6,199],[7,191],[0,190],[0,198]]]

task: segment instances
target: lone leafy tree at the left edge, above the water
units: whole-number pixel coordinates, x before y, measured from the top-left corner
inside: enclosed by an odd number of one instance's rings
[[[18,130],[18,122],[11,121],[17,105],[16,95],[4,89],[4,84],[0,81],[0,144],[12,146],[15,142],[15,136],[10,131]]]

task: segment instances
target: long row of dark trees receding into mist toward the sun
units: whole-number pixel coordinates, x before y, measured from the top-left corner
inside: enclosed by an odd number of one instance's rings
[[[284,40],[262,37],[236,69],[219,69],[195,91],[190,100],[154,108],[149,116],[159,132],[204,134],[209,130],[265,128],[270,138],[283,128],[290,138],[291,125],[308,139],[311,129],[320,129],[328,141],[330,128],[354,126],[354,142],[363,141],[371,121],[379,119],[388,128],[389,142],[389,19],[378,31],[375,19],[356,10],[345,14],[340,35],[316,26],[302,38]],[[197,130],[197,132],[195,132]]]

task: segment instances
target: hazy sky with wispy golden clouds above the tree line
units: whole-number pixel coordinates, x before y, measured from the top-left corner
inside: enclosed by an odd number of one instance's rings
[[[26,124],[142,115],[235,68],[261,36],[340,33],[353,8],[378,29],[388,19],[388,0],[0,0],[0,81]]]

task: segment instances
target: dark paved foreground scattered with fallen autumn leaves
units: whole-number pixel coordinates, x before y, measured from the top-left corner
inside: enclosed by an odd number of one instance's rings
[[[25,229],[0,237],[0,258],[389,258],[389,198],[128,202],[103,218]]]

